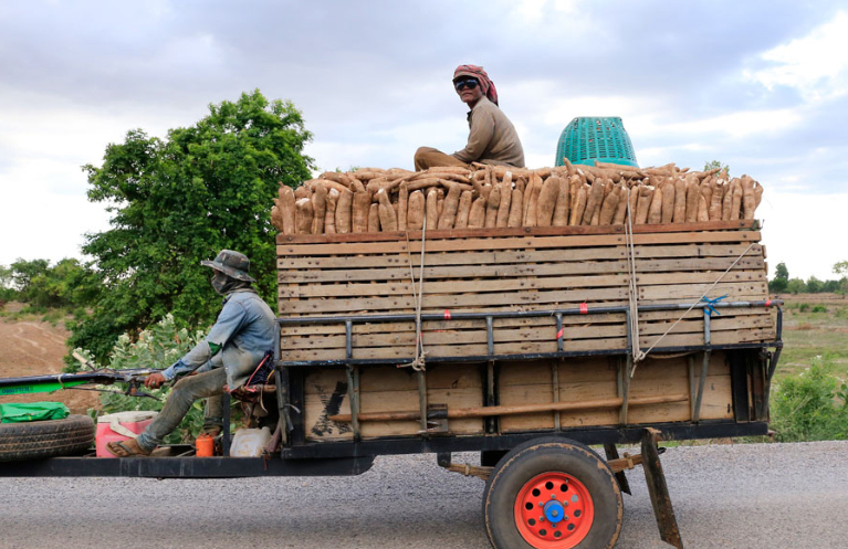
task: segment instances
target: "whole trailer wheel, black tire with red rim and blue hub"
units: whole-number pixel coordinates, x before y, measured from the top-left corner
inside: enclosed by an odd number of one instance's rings
[[[512,450],[492,472],[483,499],[495,549],[611,548],[622,511],[606,462],[584,444],[555,437]]]

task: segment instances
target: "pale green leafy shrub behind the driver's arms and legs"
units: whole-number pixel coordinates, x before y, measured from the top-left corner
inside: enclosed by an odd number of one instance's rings
[[[118,337],[117,344],[112,349],[108,367],[116,370],[137,368],[167,368],[182,357],[191,347],[203,338],[203,332],[189,334],[185,328],[178,328],[174,316],[167,315],[160,321],[143,330],[134,340],[128,334]],[[92,352],[76,349],[88,360],[94,360]],[[115,391],[117,386],[104,388]],[[119,388],[123,390],[124,388]],[[160,411],[165,400],[171,392],[170,386],[158,390],[148,390],[160,400],[127,397],[119,392],[104,392],[101,397],[102,411],[104,414],[123,412],[128,410]],[[179,427],[165,439],[167,444],[179,444],[192,441],[203,426],[203,401],[197,401],[191,405],[186,419]]]

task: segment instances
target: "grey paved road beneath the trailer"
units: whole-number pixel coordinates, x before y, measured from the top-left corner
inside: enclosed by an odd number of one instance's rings
[[[688,549],[848,547],[848,442],[676,447],[662,461]],[[628,475],[616,547],[669,547],[641,469]],[[435,456],[378,458],[354,478],[0,478],[0,547],[484,549],[482,489]]]

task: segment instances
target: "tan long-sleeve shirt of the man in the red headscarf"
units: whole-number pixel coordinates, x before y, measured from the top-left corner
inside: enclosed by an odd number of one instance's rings
[[[468,145],[451,155],[465,163],[481,162],[524,168],[524,148],[506,115],[485,96],[468,114]]]

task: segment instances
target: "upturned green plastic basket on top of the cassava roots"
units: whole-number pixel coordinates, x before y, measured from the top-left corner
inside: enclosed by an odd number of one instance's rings
[[[593,166],[600,162],[636,166],[636,154],[621,118],[582,116],[565,127],[556,146],[556,166],[572,163]]]

